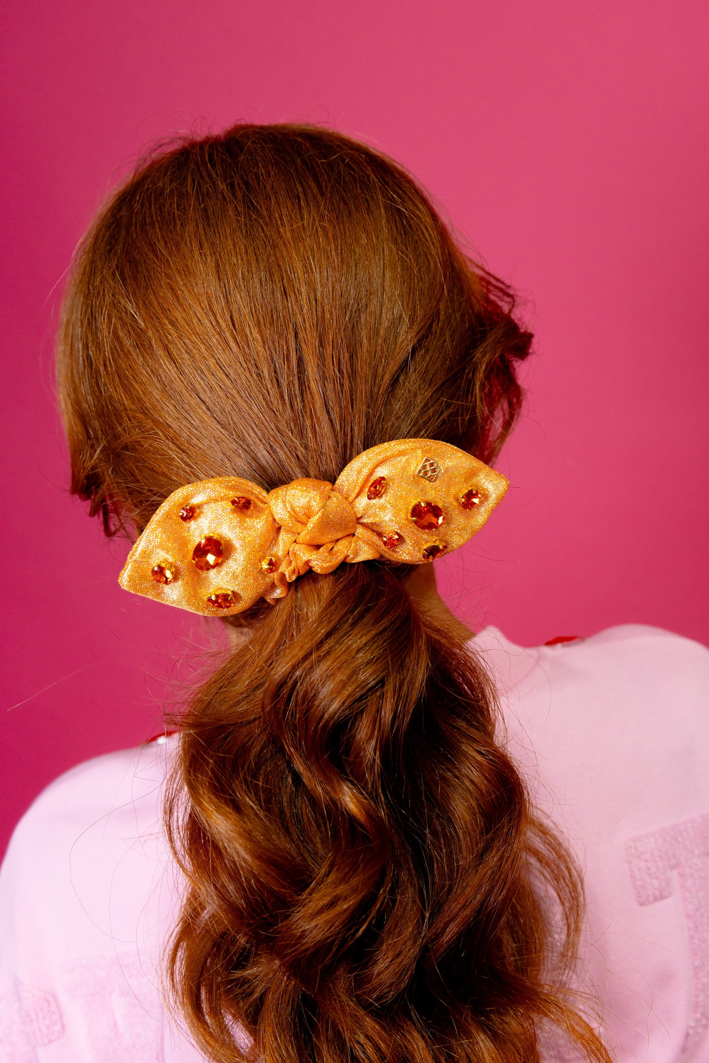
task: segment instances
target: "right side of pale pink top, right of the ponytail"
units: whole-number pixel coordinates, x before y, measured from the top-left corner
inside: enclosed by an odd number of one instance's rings
[[[493,653],[517,669],[511,749],[584,870],[609,1040],[620,1059],[709,1058],[709,651],[641,624],[551,643]]]

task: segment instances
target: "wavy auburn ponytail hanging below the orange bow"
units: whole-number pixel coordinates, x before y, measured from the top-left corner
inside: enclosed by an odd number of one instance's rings
[[[171,986],[208,1059],[531,1063],[542,1022],[609,1059],[545,981],[564,949],[530,873],[567,913],[580,883],[496,727],[474,642],[384,564],[261,610],[191,704],[167,804]]]

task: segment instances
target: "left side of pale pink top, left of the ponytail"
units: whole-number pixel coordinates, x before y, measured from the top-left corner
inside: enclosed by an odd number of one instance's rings
[[[201,1059],[159,988],[182,890],[162,829],[174,744],[87,760],[19,822],[0,870],[0,1059]]]

